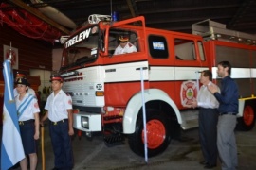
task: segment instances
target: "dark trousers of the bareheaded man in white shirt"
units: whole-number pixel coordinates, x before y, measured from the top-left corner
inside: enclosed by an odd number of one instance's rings
[[[199,141],[205,161],[210,165],[217,163],[217,123],[216,109],[199,109]]]

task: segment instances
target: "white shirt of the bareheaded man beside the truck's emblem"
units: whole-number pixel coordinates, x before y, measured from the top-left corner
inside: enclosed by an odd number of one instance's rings
[[[208,85],[211,84],[213,86],[216,86],[212,82],[210,82]],[[220,92],[219,88],[218,91]],[[197,95],[197,105],[198,107],[202,108],[216,109],[219,107],[219,102],[217,101],[215,96],[212,93],[210,93],[210,91],[207,89],[207,86],[202,85]]]

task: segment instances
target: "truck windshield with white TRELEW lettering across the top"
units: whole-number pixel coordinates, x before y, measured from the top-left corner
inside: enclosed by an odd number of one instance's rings
[[[78,32],[64,43],[61,69],[90,62],[98,56],[99,27],[91,26]]]

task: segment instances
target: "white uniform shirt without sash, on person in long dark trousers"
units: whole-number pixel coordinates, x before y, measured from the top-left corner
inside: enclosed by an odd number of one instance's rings
[[[48,119],[52,122],[67,119],[67,110],[72,109],[72,98],[63,90],[60,90],[55,96],[54,93],[51,93],[47,98],[45,109],[48,110]]]

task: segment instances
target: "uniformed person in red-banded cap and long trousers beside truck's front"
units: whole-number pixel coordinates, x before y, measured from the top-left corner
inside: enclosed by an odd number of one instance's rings
[[[46,114],[40,124],[49,119],[49,134],[54,152],[54,168],[71,170],[73,168],[73,151],[71,136],[74,135],[72,99],[62,90],[64,78],[60,75],[50,77],[52,93],[46,101]]]

